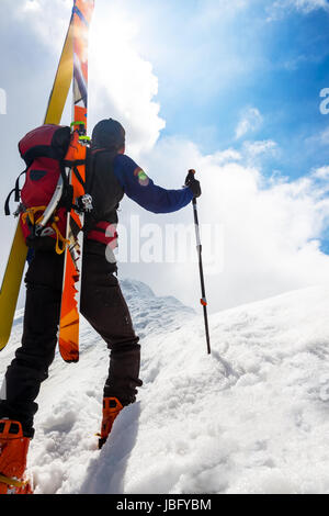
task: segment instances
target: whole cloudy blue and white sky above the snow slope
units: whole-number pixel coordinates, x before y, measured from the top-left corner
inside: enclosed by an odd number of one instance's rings
[[[24,168],[18,142],[43,122],[71,0],[1,8],[4,202]],[[325,0],[95,1],[90,131],[120,120],[127,154],[162,187],[197,170],[212,312],[329,278],[328,22]],[[198,310],[192,217],[125,200],[120,274]],[[1,214],[0,228],[3,270],[14,221]]]

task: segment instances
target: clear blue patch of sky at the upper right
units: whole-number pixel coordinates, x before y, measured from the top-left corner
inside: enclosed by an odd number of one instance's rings
[[[254,106],[263,123],[252,138],[273,139],[281,150],[264,164],[266,172],[275,169],[296,178],[329,159],[329,145],[319,137],[329,127],[329,115],[319,112],[319,92],[329,86],[329,13],[324,9],[285,9],[269,20],[271,3],[247,2],[226,18],[225,26],[219,22],[216,30],[215,20],[194,32],[193,7],[201,9],[202,2],[179,2],[177,23],[166,23],[159,30],[156,1],[154,23],[143,27],[144,51],[159,78],[161,115],[167,122],[163,135],[183,134],[206,153],[236,147],[240,113],[248,105]],[[167,2],[167,14],[171,4]],[[170,40],[177,43],[177,53],[170,45],[162,58]],[[148,41],[152,41],[154,52],[147,47]],[[189,41],[191,63],[186,65]],[[182,75],[177,74],[180,47],[185,59]]]

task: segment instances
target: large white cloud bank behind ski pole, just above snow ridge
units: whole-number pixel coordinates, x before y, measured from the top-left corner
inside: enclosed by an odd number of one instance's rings
[[[273,177],[269,186],[260,170],[243,164],[240,155],[238,161],[224,157],[225,153],[204,156],[192,142],[164,138],[141,164],[157,183],[169,188],[179,188],[189,168],[197,171],[203,190],[200,222],[213,228],[220,224],[224,235],[218,246],[206,240],[203,247],[209,310],[321,283],[329,274],[329,258],[319,248],[329,221],[326,184],[310,173],[292,182]],[[193,220],[190,206],[157,216],[135,209],[128,200],[123,204],[123,216],[135,210],[141,223],[188,225]],[[207,261],[214,253],[217,270]],[[137,263],[121,269],[148,282],[158,293],[172,293],[188,304],[195,301],[197,306],[196,263]]]

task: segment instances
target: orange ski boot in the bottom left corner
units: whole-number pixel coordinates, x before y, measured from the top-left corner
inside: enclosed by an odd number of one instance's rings
[[[0,494],[32,494],[24,479],[30,440],[21,423],[0,419]]]

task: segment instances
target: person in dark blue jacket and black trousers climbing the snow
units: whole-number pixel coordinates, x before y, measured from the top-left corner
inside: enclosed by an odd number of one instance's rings
[[[143,384],[139,338],[115,276],[117,266],[111,251],[117,239],[118,204],[126,194],[150,212],[171,213],[201,195],[195,178],[180,190],[156,186],[124,153],[123,126],[112,119],[99,122],[92,133],[87,166],[93,210],[86,215],[80,301],[82,315],[111,350],[99,448],[106,441],[117,414],[136,401],[137,388]],[[46,236],[43,240],[49,238]],[[46,245],[33,249],[25,277],[22,345],[15,351],[0,391],[0,493],[1,485],[7,487],[1,484],[1,478],[23,478],[38,408],[35,400],[55,357],[64,255],[54,251],[52,242],[50,249]]]

